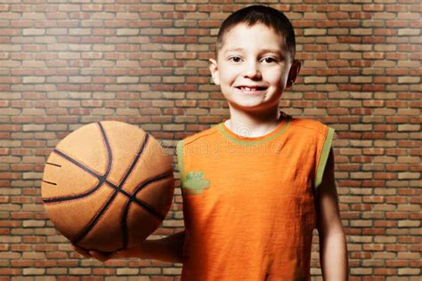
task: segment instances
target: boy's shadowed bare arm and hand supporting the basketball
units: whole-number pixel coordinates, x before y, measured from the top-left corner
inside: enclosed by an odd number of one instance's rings
[[[88,251],[77,245],[73,245],[73,247],[77,253],[80,253],[85,258],[95,258],[99,261],[138,258],[182,263],[183,243],[184,231],[158,240],[145,240],[140,245],[115,253]]]

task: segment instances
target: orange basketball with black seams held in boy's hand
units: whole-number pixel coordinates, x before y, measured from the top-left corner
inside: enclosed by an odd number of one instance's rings
[[[85,124],[53,149],[41,194],[53,225],[72,243],[125,249],[165,219],[174,194],[172,157],[138,126]]]

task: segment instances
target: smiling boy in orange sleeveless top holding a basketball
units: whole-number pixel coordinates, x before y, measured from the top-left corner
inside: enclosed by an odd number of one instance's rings
[[[230,119],[178,143],[185,231],[118,253],[77,252],[183,262],[185,280],[309,280],[316,227],[324,279],[346,280],[334,130],[279,109],[300,70],[295,48],[289,20],[270,7],[224,20],[209,68]]]

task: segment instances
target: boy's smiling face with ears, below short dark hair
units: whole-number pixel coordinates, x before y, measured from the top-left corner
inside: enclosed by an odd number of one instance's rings
[[[300,62],[292,62],[282,48],[280,36],[262,24],[231,28],[217,60],[209,61],[214,82],[230,107],[248,112],[278,108],[300,69]]]

